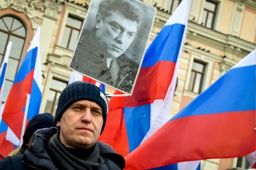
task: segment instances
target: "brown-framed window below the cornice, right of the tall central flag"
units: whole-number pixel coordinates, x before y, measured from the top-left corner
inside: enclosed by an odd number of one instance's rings
[[[196,94],[201,93],[205,67],[206,64],[194,60],[188,85],[189,91],[192,91]]]

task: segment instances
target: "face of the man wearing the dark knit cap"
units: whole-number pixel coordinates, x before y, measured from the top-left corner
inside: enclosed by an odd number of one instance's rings
[[[88,100],[73,103],[60,121],[60,141],[68,148],[91,148],[98,140],[103,125],[101,107]]]

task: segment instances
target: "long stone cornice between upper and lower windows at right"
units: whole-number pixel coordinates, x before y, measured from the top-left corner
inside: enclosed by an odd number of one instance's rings
[[[170,14],[157,11],[155,26],[162,28],[169,19]],[[155,37],[153,33],[151,36]],[[229,50],[237,56],[244,57],[255,49],[255,44],[245,41],[239,37],[223,34],[221,32],[206,28],[193,21],[188,21],[187,38],[193,39],[205,45],[214,47],[216,49],[227,51],[227,47],[232,46],[234,50]]]

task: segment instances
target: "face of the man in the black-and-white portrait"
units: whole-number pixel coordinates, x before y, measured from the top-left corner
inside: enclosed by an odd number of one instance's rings
[[[97,14],[95,21],[96,40],[103,47],[108,57],[118,58],[131,45],[138,28],[138,23],[127,19],[119,11],[112,11],[104,19]]]

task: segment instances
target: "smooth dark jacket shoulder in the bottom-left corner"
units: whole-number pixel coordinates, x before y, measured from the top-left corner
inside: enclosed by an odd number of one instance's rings
[[[0,170],[23,170],[22,158],[23,155],[14,155],[3,158],[0,161]]]

